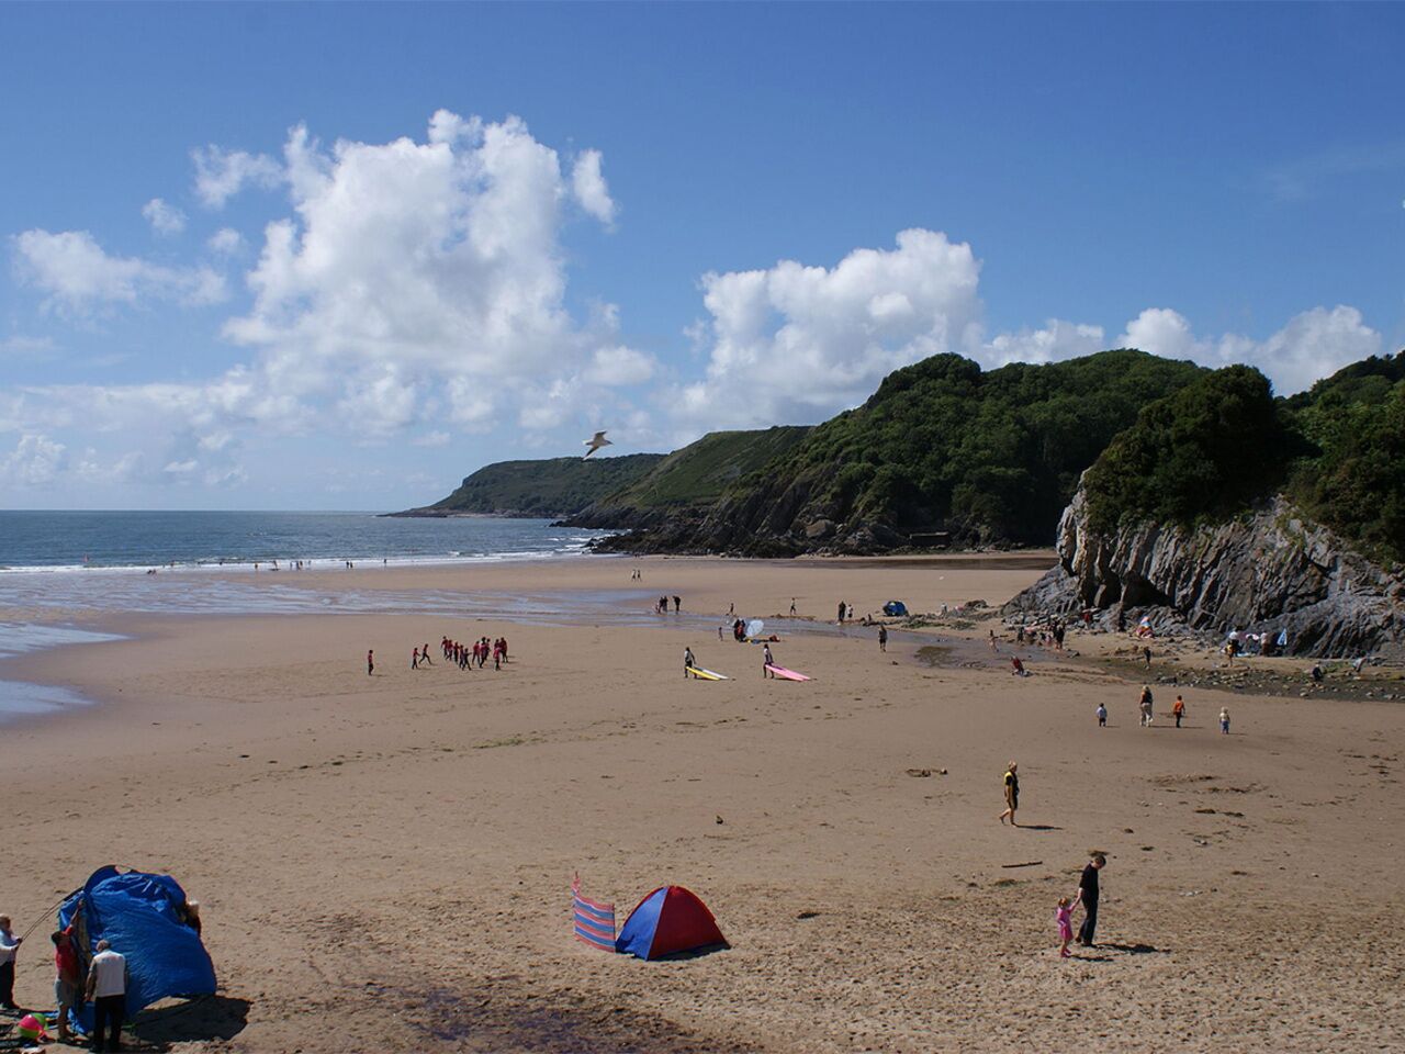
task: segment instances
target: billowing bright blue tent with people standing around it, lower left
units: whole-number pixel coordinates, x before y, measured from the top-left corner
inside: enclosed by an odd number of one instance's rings
[[[126,958],[126,1017],[169,996],[214,995],[215,965],[185,925],[185,891],[169,874],[119,873],[100,867],[59,908],[59,928],[73,928],[84,982],[97,942]],[[84,1032],[93,1029],[91,1003],[74,1008]]]

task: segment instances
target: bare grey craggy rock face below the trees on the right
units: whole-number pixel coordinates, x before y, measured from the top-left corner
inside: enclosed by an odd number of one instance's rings
[[[1132,609],[1207,632],[1286,630],[1315,658],[1405,653],[1405,575],[1352,551],[1276,497],[1214,527],[1144,523],[1111,535],[1087,526],[1083,492],[1058,528],[1059,566],[1007,611]]]

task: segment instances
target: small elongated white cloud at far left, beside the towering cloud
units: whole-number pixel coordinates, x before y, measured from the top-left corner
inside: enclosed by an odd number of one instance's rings
[[[14,238],[18,275],[48,295],[46,305],[81,315],[100,304],[177,299],[216,304],[225,278],[208,267],[162,267],[108,256],[87,230],[25,230]]]

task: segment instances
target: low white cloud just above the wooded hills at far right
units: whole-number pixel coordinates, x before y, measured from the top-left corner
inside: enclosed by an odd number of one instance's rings
[[[1381,334],[1364,323],[1361,312],[1340,304],[1331,311],[1318,306],[1294,315],[1266,340],[1241,333],[1201,339],[1180,312],[1148,308],[1127,323],[1120,343],[1201,365],[1253,365],[1273,381],[1279,395],[1311,388],[1350,363],[1380,354],[1383,347]]]

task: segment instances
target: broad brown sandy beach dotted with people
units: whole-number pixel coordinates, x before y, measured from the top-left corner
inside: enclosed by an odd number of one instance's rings
[[[1087,659],[1125,641],[1076,630],[1085,658],[1038,653],[1020,679],[982,642],[995,621],[895,634],[885,653],[871,628],[773,621],[777,661],[809,683],[763,679],[760,648],[717,637],[731,604],[773,620],[792,597],[816,623],[839,600],[858,617],[891,597],[999,606],[1043,566],[374,568],[257,587],[434,592],[440,610],[67,613],[131,639],[4,663],[94,704],[0,727],[0,912],[27,929],[105,863],[176,876],[222,991],[149,1015],[148,1048],[1399,1048],[1398,703],[1196,689],[1176,729],[1175,689],[1156,686],[1146,729],[1139,683]],[[542,600],[513,620],[466,599],[452,613],[468,592]],[[681,614],[649,614],[659,594]],[[566,624],[548,614],[561,596],[599,614]],[[506,635],[511,662],[459,672],[445,635]],[[412,670],[426,641],[434,665]],[[934,665],[923,644],[944,648]],[[732,680],[684,679],[686,645]],[[1019,829],[996,818],[1012,759]],[[1061,961],[1055,901],[1093,849],[1100,946]],[[687,885],[732,947],[589,949],[570,935],[575,873],[621,923]],[[31,1005],[52,1001],[46,932],[20,953]]]

